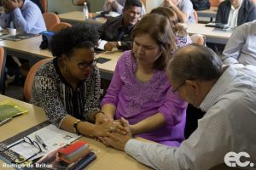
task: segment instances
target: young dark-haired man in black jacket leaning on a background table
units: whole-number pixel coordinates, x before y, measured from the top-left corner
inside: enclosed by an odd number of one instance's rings
[[[100,39],[108,41],[104,45],[106,51],[112,51],[113,48],[131,49],[131,31],[141,17],[141,10],[140,0],[127,0],[123,15],[108,18],[107,22],[99,28]]]

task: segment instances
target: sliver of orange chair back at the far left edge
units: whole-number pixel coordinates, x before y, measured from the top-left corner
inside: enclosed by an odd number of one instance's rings
[[[5,50],[3,47],[0,47],[0,90],[2,90],[2,94],[5,93],[5,61]]]

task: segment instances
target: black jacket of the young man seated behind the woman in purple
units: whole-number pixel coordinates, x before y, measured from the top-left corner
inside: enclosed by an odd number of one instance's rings
[[[134,26],[123,26],[123,16],[110,17],[98,32],[102,40],[108,42],[122,42],[121,50],[131,49],[131,31]]]

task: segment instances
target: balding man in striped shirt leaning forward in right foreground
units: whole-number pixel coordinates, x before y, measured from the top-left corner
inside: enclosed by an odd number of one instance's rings
[[[247,153],[242,156],[243,166],[255,167],[255,72],[247,66],[224,66],[212,49],[193,44],[172,55],[167,74],[182,99],[207,111],[189,139],[175,148],[131,139],[131,133],[113,133],[115,140],[105,138],[105,142],[154,169],[207,170],[224,163],[230,152]],[[129,129],[127,122],[122,123]]]

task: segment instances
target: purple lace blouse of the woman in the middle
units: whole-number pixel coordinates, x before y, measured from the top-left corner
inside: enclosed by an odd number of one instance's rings
[[[172,94],[165,71],[155,70],[148,82],[138,80],[136,71],[136,59],[131,56],[131,51],[125,51],[116,65],[102,105],[115,105],[115,119],[124,117],[131,125],[160,112],[165,117],[165,125],[137,136],[161,144],[179,146],[184,139],[187,103],[177,94]]]

